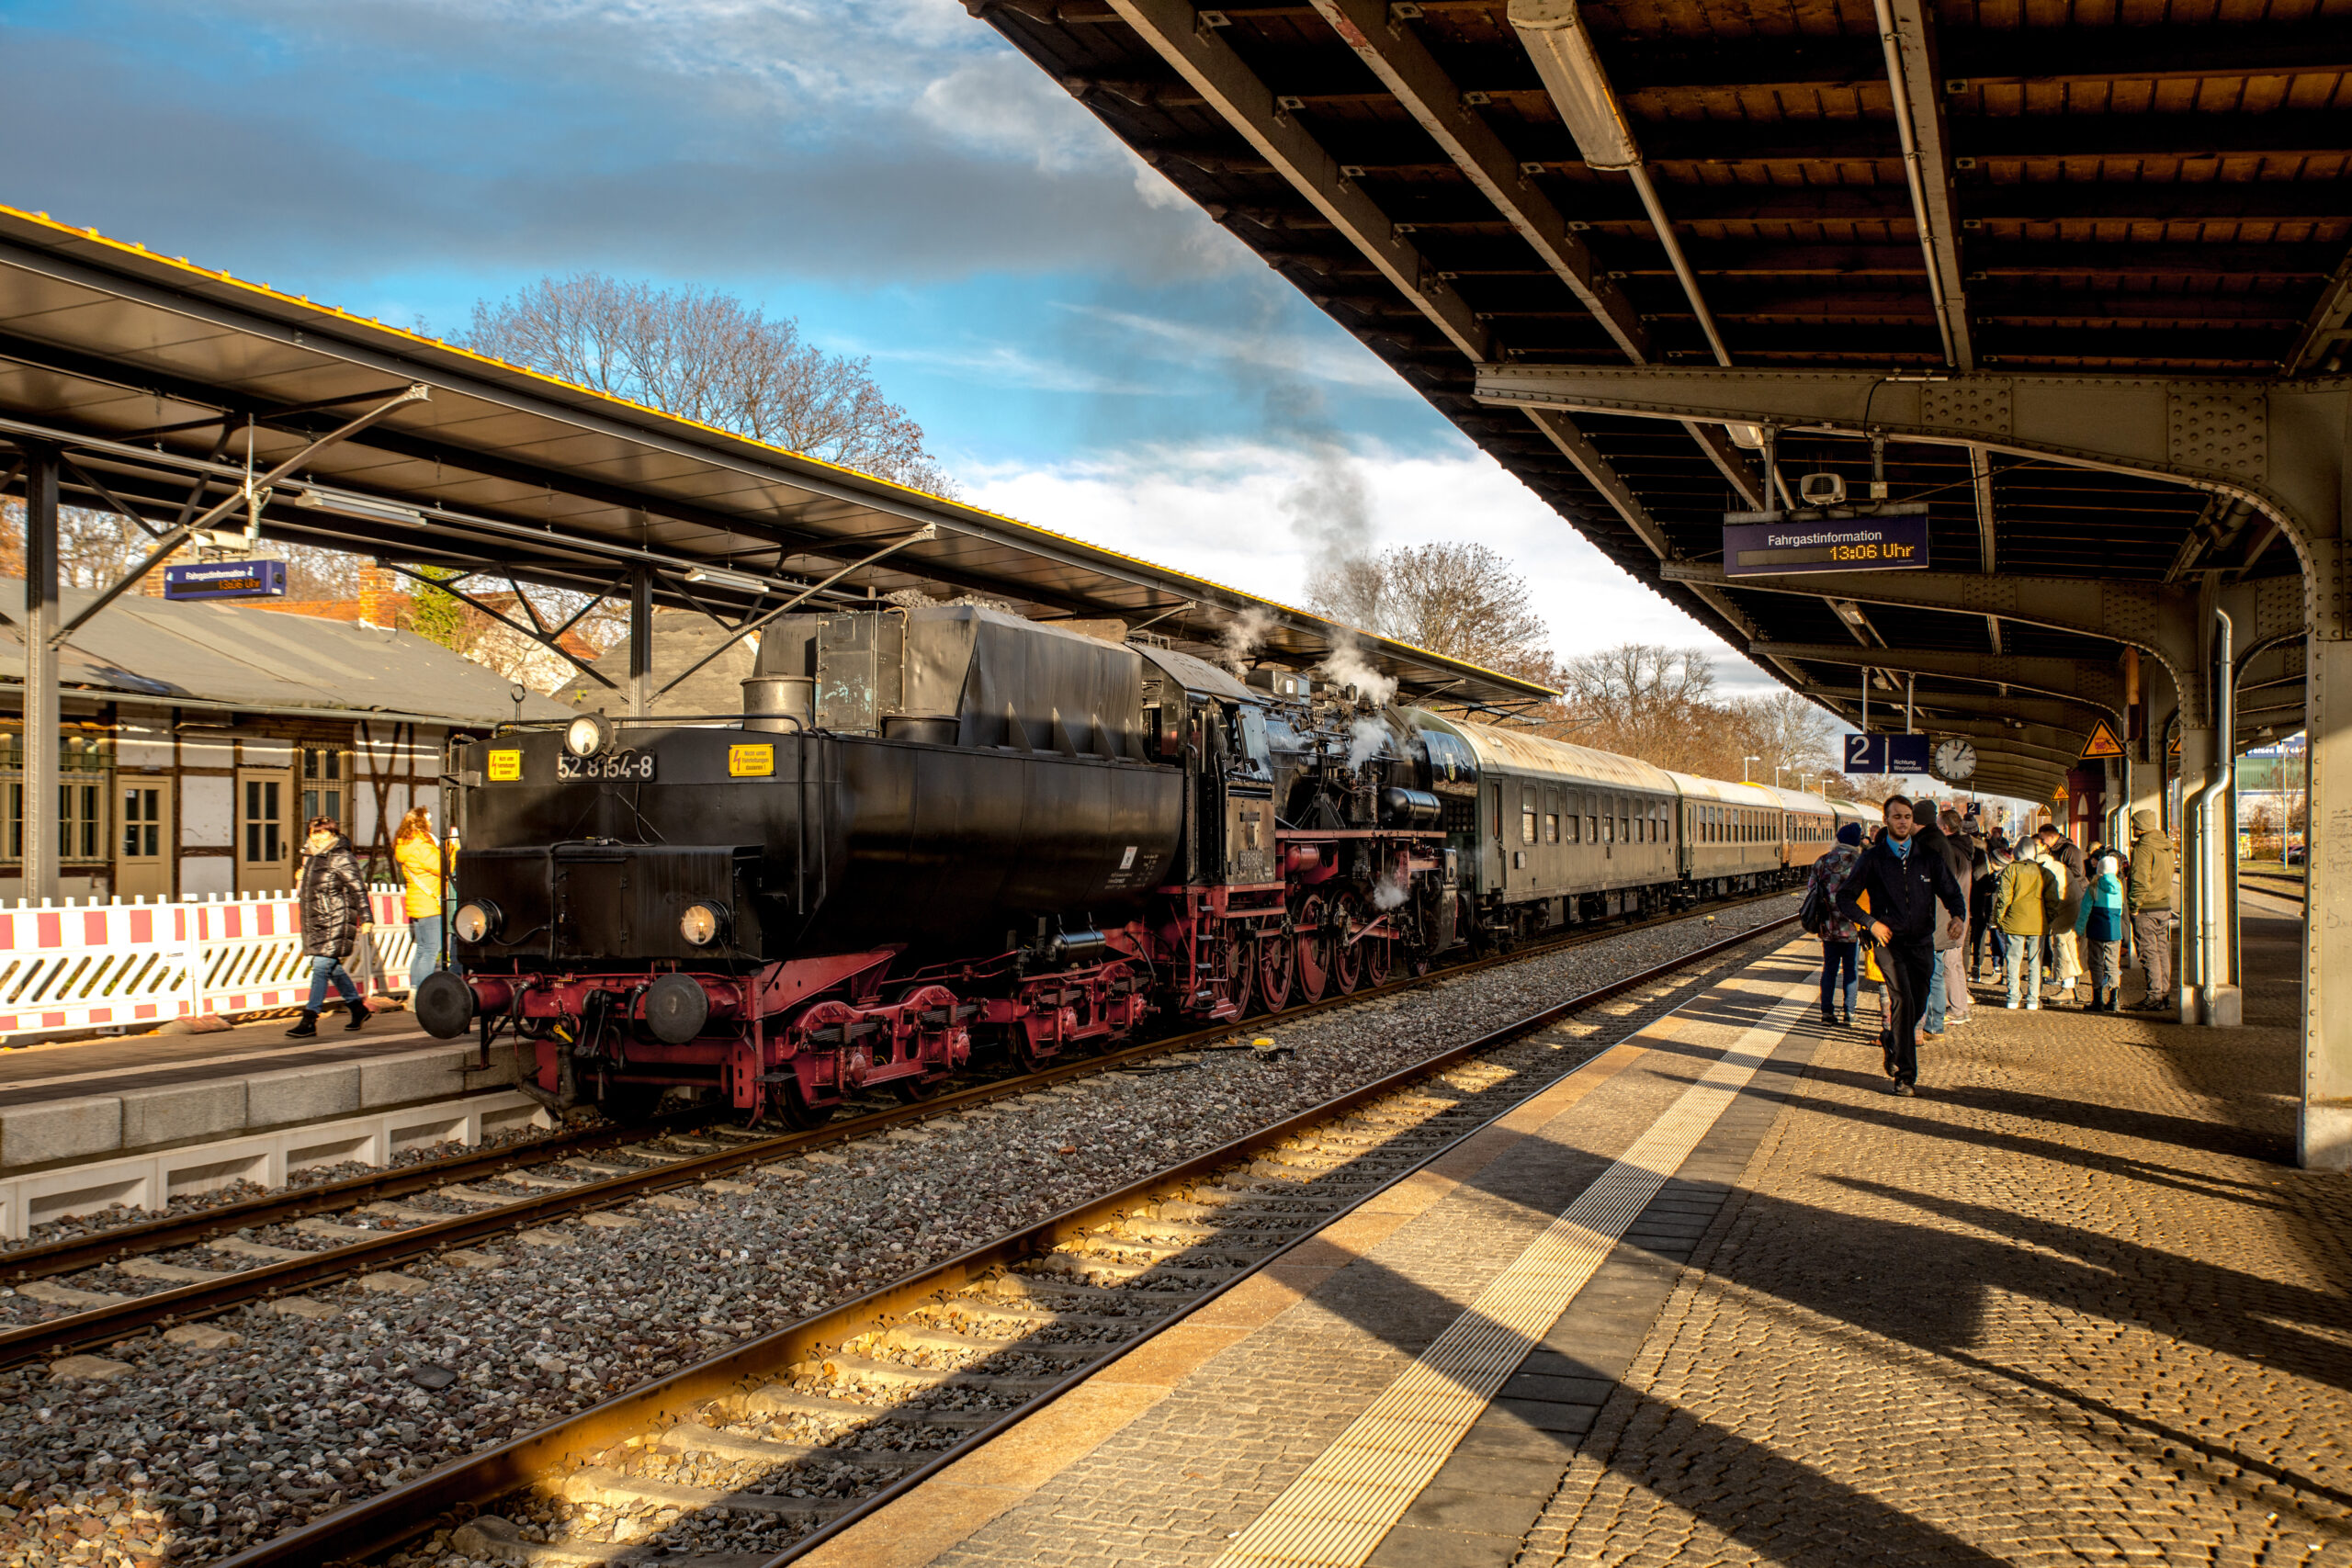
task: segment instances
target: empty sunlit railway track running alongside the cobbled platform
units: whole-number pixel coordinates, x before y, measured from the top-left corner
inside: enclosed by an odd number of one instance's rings
[[[1562,1067],[1550,1056],[1562,1046],[1531,1037],[1790,924],[1745,929],[1442,1048],[247,1547],[226,1568],[381,1556],[430,1530],[428,1552],[407,1561],[776,1568],[1581,1065]],[[475,1514],[494,1505],[503,1512]]]

